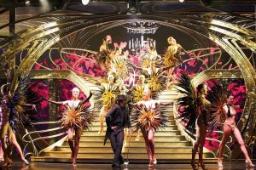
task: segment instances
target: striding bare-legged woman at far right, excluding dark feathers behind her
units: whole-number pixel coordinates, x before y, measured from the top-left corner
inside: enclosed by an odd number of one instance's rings
[[[222,164],[222,153],[224,145],[227,142],[230,134],[233,133],[237,142],[240,144],[241,152],[246,158],[246,165],[247,167],[255,167],[253,162],[251,161],[250,157],[248,156],[247,149],[244,145],[243,139],[241,138],[241,133],[239,132],[238,128],[236,127],[236,109],[239,108],[239,105],[233,105],[234,96],[232,94],[227,95],[227,102],[223,106],[223,111],[225,114],[225,122],[224,122],[224,134],[221,143],[219,144],[218,148],[218,167],[223,167]]]

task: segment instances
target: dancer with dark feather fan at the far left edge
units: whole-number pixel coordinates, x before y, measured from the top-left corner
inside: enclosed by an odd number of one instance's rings
[[[31,83],[27,75],[20,77],[19,84],[13,94],[9,93],[9,85],[3,85],[1,91],[4,91],[2,106],[2,124],[1,141],[5,165],[11,164],[12,144],[6,144],[5,135],[9,133],[9,141],[13,133],[18,132],[18,127],[30,128],[32,122],[37,120],[36,106],[43,101],[43,98],[35,92],[36,83]]]

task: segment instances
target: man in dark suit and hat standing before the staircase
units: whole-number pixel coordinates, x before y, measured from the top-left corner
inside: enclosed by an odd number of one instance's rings
[[[110,139],[111,146],[114,153],[112,167],[120,167],[123,164],[123,157],[121,156],[123,142],[124,142],[124,127],[129,127],[131,133],[131,122],[129,109],[126,106],[125,95],[119,94],[117,96],[117,103],[108,111],[106,115],[107,132],[104,144],[107,139]]]

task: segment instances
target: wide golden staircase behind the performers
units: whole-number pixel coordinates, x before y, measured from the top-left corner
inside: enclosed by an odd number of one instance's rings
[[[172,101],[177,97],[174,88],[166,90],[160,95],[161,101]],[[158,162],[189,162],[191,160],[192,142],[188,141],[185,136],[181,135],[178,130],[177,122],[173,117],[173,106],[165,106],[165,111],[170,115],[170,122],[166,129],[159,130],[155,133],[155,155]],[[96,111],[98,115],[99,111]],[[110,142],[103,145],[104,135],[98,135],[100,123],[98,118],[92,123],[90,131],[84,131],[79,144],[78,162],[91,163],[110,163],[113,159],[113,151]],[[139,141],[136,139],[135,133],[131,135],[131,143],[129,150],[129,161],[148,162],[148,155],[145,149],[144,139],[141,135]],[[126,158],[128,151],[129,137],[126,139],[127,144],[123,148],[123,156]],[[124,155],[125,154],[125,155]],[[71,151],[66,141],[61,146],[56,146],[53,150],[45,151],[39,156],[32,156],[32,161],[56,161],[67,162],[70,161]],[[204,153],[207,161],[215,161],[214,155],[210,152]]]

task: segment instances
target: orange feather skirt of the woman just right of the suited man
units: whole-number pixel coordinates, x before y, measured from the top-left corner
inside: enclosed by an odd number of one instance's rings
[[[148,110],[145,107],[135,107],[131,114],[131,124],[134,131],[141,129],[143,132],[148,133],[150,128],[157,130],[158,128],[166,127],[168,116],[160,110]]]

